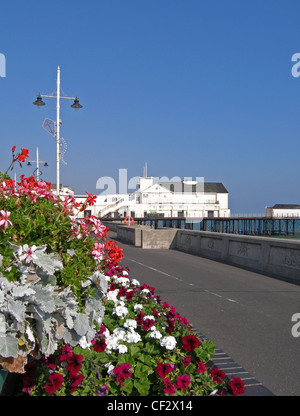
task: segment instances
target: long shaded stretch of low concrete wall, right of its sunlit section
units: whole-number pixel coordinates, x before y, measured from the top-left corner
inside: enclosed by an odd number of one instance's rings
[[[177,250],[300,283],[300,241],[178,230]]]

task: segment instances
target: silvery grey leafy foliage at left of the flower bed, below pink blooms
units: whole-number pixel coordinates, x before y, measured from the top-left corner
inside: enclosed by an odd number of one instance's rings
[[[88,345],[95,335],[95,322],[101,324],[104,317],[105,276],[95,271],[82,283],[83,292],[92,287],[95,295],[87,295],[80,312],[71,288],[56,285],[55,272],[63,268],[58,254],[45,253],[46,246],[39,246],[26,263],[21,248],[11,247],[13,264],[22,275],[19,281],[9,282],[0,273],[0,357],[26,357],[36,347],[49,356],[61,340],[71,346]]]

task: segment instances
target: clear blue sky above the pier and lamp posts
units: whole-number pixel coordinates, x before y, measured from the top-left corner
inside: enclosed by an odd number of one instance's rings
[[[299,0],[87,0],[3,2],[0,170],[25,147],[56,182],[55,119],[61,87],[67,142],[61,182],[99,194],[97,180],[148,175],[222,182],[234,213],[300,203]],[[33,169],[16,168],[30,175]]]

